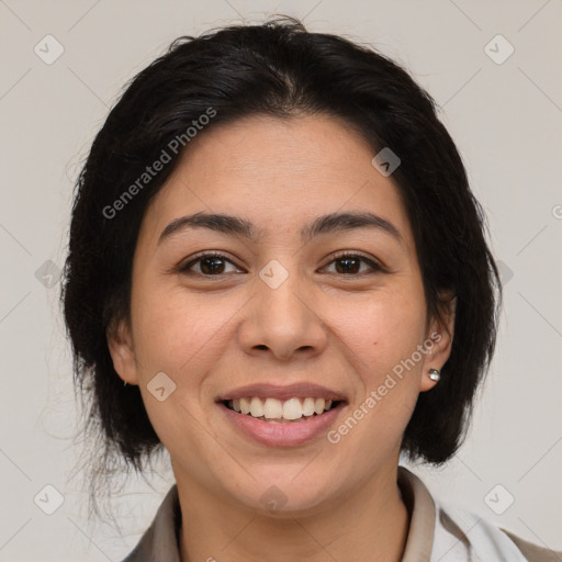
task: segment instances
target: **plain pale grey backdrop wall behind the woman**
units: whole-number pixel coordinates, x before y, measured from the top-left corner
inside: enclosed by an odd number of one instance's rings
[[[561,0],[0,0],[0,560],[117,561],[172,483],[162,465],[114,494],[122,537],[88,521],[57,305],[72,183],[122,86],[175,37],[270,13],[379,47],[442,106],[488,216],[505,306],[467,443],[440,470],[413,470],[437,497],[562,549],[561,12]],[[52,64],[48,34],[64,47]],[[46,485],[64,497],[52,515]]]

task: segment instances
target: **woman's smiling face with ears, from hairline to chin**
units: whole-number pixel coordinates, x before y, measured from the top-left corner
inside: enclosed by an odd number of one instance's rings
[[[241,120],[188,148],[143,220],[115,369],[179,485],[265,513],[340,505],[395,470],[450,348],[398,190],[327,116]],[[316,398],[338,405],[310,415]]]

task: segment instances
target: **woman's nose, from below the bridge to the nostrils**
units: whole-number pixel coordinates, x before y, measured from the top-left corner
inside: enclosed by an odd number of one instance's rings
[[[312,358],[325,349],[327,329],[318,314],[318,297],[294,271],[277,288],[257,280],[257,293],[245,307],[238,334],[246,353],[289,361]]]

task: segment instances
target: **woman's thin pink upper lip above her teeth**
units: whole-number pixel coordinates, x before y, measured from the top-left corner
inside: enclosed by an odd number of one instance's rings
[[[259,398],[277,398],[277,400],[290,400],[290,398],[306,398],[308,396],[314,398],[324,398],[331,401],[345,401],[346,397],[340,392],[327,389],[321,384],[312,384],[307,382],[300,382],[294,384],[288,384],[280,386],[278,384],[259,383],[249,384],[247,386],[239,386],[222,393],[216,402],[225,400],[239,400],[258,396]]]

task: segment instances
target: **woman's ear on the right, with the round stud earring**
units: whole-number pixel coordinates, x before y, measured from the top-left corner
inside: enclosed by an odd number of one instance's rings
[[[427,339],[424,342],[427,351],[424,357],[419,392],[429,391],[438,384],[438,382],[429,379],[429,369],[438,369],[440,371],[451,355],[457,297],[451,293],[441,294],[440,297],[441,317],[431,318]]]

